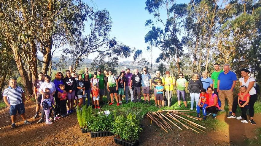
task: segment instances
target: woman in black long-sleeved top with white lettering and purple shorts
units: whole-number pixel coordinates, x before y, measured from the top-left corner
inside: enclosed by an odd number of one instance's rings
[[[73,105],[74,105],[74,96],[76,89],[76,81],[75,78],[71,76],[70,70],[66,70],[66,77],[63,79],[63,83],[65,85],[65,91],[67,92],[67,113],[73,113]]]

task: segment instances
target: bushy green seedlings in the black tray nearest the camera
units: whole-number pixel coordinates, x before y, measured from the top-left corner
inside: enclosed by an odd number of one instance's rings
[[[139,126],[139,119],[135,114],[129,113],[125,118],[120,115],[115,118],[112,133],[117,134],[120,139],[135,142],[139,139],[142,128]]]

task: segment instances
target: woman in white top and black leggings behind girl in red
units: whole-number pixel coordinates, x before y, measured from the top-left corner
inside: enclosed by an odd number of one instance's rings
[[[239,85],[240,86],[246,86],[247,87],[247,90],[244,94],[241,95],[241,91],[239,92],[240,93],[240,99],[244,98],[244,96],[249,93],[250,94],[250,99],[249,99],[249,106],[250,106],[250,109],[249,109],[249,115],[250,115],[250,119],[249,119],[249,122],[252,124],[252,125],[256,125],[256,122],[254,121],[253,117],[254,117],[254,104],[255,102],[257,101],[257,84],[256,84],[256,80],[251,77],[251,76],[248,76],[248,74],[250,73],[250,71],[248,69],[241,69],[240,70],[240,74],[241,74],[241,78],[239,78]],[[232,106],[232,114],[229,114],[227,115],[227,118],[236,118],[238,120],[242,119],[242,117],[236,117],[235,116],[235,111],[238,107],[238,98],[235,98],[234,99],[234,102],[233,102],[233,106]]]

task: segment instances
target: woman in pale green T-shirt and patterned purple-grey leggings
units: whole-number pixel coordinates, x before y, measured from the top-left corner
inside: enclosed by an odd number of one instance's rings
[[[185,88],[187,87],[187,80],[183,78],[183,73],[179,73],[179,79],[176,81],[176,86],[177,86],[177,96],[178,96],[178,104],[180,106],[180,96],[182,96],[183,103],[185,107],[187,108],[187,101],[186,101],[186,92]]]

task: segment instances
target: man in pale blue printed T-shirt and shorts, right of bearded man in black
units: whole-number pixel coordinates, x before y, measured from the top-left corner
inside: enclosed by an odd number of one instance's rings
[[[143,74],[141,74],[142,77],[142,93],[144,96],[144,103],[150,104],[150,99],[149,99],[149,91],[151,89],[151,76],[147,73],[147,68],[143,68]]]

